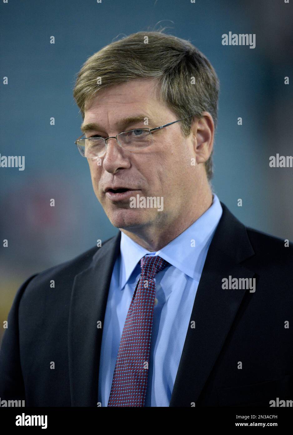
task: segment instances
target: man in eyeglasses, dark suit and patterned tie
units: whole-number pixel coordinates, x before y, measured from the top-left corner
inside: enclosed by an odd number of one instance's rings
[[[207,58],[160,32],[111,43],[83,65],[76,144],[120,231],[21,286],[0,351],[1,400],[293,398],[293,245],[246,228],[212,192],[218,90]]]

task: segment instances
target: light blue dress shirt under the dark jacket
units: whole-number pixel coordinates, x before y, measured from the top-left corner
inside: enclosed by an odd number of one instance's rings
[[[213,194],[211,207],[157,252],[147,251],[121,232],[120,255],[112,272],[102,335],[98,395],[102,406],[108,405],[122,330],[140,278],[139,262],[145,255],[159,255],[170,263],[155,276],[145,406],[169,406],[195,294],[221,215],[220,201]]]

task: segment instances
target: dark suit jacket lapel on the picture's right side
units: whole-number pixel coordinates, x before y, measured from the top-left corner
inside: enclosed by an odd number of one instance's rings
[[[196,403],[227,338],[247,290],[224,290],[222,279],[253,278],[240,262],[254,254],[246,228],[222,204],[223,214],[211,241],[169,406]],[[249,290],[248,290],[249,291]]]

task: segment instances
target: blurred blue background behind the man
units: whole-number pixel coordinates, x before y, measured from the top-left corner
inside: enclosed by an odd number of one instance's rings
[[[269,167],[271,155],[293,154],[292,7],[283,0],[1,3],[1,74],[8,84],[1,87],[0,154],[25,156],[24,171],[0,167],[1,324],[31,274],[119,231],[74,144],[82,117],[72,89],[89,56],[130,33],[167,27],[164,33],[190,40],[211,61],[221,86],[214,191],[244,224],[293,240],[293,168]],[[255,33],[256,47],[223,46],[229,31]]]

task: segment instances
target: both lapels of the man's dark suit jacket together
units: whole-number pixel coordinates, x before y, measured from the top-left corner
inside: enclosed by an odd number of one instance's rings
[[[221,203],[223,213],[207,252],[178,367],[170,406],[197,402],[245,290],[222,290],[222,278],[252,278],[244,260],[254,254],[246,228]],[[99,359],[112,271],[121,232],[100,248],[89,268],[77,274],[70,299],[68,353],[72,406],[97,406]],[[101,322],[101,328],[99,323]],[[98,328],[97,328],[98,326]]]

